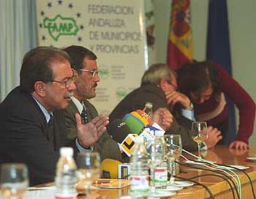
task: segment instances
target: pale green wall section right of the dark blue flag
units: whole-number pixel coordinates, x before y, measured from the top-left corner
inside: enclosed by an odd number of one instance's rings
[[[245,3],[246,2],[246,3]],[[228,0],[233,77],[256,101],[256,1]],[[255,123],[255,122],[254,122]],[[256,127],[250,144],[256,145]]]

